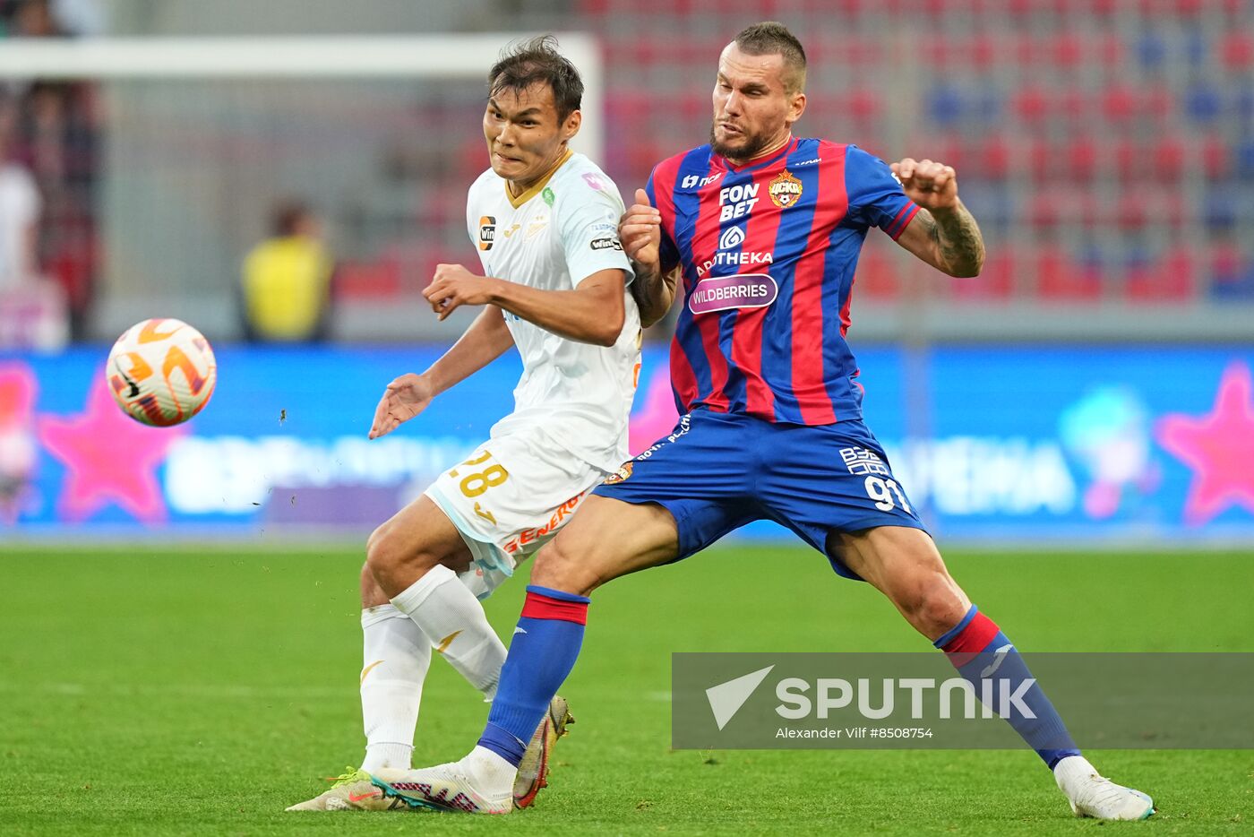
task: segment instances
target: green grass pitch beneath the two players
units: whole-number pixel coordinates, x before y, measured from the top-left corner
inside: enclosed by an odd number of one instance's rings
[[[1254,823],[1244,750],[1090,753],[1160,809],[1105,826],[1071,818],[1026,749],[672,752],[672,651],[927,648],[869,586],[813,552],[766,546],[710,550],[596,594],[563,689],[578,723],[534,808],[287,814],[361,757],[360,560],[330,547],[0,550],[0,834],[1228,834]],[[948,561],[1028,651],[1254,651],[1251,553]],[[522,592],[514,582],[489,602],[502,632]],[[459,758],[484,717],[435,661],[415,762]]]

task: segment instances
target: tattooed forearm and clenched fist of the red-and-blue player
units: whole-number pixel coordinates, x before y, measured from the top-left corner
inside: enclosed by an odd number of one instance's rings
[[[958,198],[953,167],[907,157],[890,168],[905,196],[920,207],[897,243],[951,276],[978,276],[984,265],[984,238]]]

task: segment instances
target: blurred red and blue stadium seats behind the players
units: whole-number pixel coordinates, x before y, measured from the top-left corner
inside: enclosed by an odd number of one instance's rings
[[[701,139],[709,120],[703,89],[677,102],[660,98],[638,84],[641,63],[650,79],[678,79],[681,95],[691,94],[739,26],[777,16],[810,53],[804,131],[885,158],[928,154],[958,168],[989,261],[984,276],[956,285],[956,295],[1254,304],[1250,245],[1234,235],[1254,221],[1254,205],[1230,182],[1254,181],[1250,4],[741,6],[581,0],[583,20],[608,45],[613,123],[648,125],[630,131],[622,154],[611,154],[619,183],[642,182],[655,162]],[[641,38],[650,31],[666,33],[665,40]],[[858,292],[893,299],[902,292],[897,272],[868,247]]]

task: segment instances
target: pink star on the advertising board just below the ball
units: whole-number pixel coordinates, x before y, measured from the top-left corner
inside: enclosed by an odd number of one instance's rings
[[[44,415],[39,439],[65,466],[56,507],[65,520],[83,521],[117,503],[147,523],[166,518],[157,466],[183,428],[155,428],[128,418],[97,375],[79,415]]]

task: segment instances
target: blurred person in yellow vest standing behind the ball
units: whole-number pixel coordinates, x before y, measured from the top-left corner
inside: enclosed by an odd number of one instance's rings
[[[332,260],[322,225],[307,206],[278,205],[271,237],[243,264],[243,320],[250,340],[298,343],[326,338]]]

